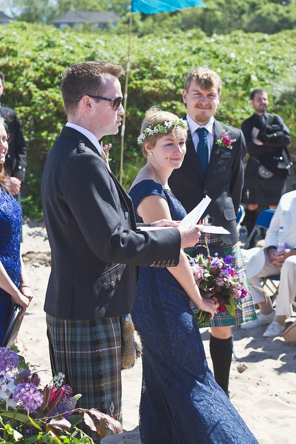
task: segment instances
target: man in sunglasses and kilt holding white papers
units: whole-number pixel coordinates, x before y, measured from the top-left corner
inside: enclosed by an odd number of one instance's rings
[[[120,421],[120,316],[134,303],[137,265],[174,266],[180,248],[199,238],[196,227],[184,230],[177,222],[172,229],[137,229],[132,201],[98,142],[118,132],[122,74],[108,62],[65,71],[68,123],[49,151],[41,184],[52,253],[44,305],[52,370],[82,394],[78,406]]]

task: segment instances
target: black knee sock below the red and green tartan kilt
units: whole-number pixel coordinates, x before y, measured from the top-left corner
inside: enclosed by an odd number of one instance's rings
[[[210,335],[210,353],[217,384],[228,394],[229,372],[233,348],[233,336],[220,339]]]

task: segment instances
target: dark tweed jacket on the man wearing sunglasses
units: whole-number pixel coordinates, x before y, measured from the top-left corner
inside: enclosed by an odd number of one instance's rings
[[[130,312],[139,267],[177,264],[176,228],[137,231],[132,201],[81,133],[64,127],[41,184],[52,269],[44,310],[62,319]]]

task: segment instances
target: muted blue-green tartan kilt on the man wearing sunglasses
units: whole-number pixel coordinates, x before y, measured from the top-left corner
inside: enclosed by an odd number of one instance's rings
[[[65,374],[80,408],[97,408],[122,425],[120,318],[57,319],[46,315],[53,373]],[[100,436],[78,425],[94,441]]]

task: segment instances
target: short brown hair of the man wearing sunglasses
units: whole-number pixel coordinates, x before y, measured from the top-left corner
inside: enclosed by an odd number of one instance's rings
[[[78,102],[75,97],[84,95],[102,96],[106,90],[105,80],[121,77],[124,70],[120,65],[100,62],[82,62],[72,65],[62,74],[61,92],[67,114],[75,114]],[[100,99],[95,99],[97,102]]]

